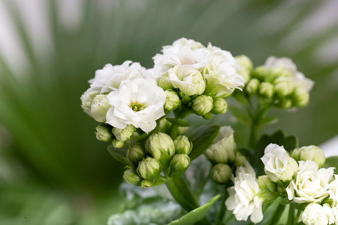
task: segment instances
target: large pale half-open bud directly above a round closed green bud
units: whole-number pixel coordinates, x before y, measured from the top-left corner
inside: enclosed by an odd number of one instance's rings
[[[223,126],[204,155],[213,163],[226,164],[235,160],[235,150],[234,130],[230,126]]]

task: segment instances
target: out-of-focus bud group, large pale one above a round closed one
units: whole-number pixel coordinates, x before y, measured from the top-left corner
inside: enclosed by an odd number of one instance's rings
[[[220,184],[230,181],[235,169],[243,166],[246,160],[245,156],[236,151],[234,130],[230,126],[220,128],[213,144],[204,155],[213,164],[210,177]]]

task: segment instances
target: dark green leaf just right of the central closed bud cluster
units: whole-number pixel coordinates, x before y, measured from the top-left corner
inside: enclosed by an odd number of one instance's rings
[[[191,160],[203,154],[212,145],[219,128],[216,125],[204,125],[190,133],[189,140],[193,146],[189,154]]]

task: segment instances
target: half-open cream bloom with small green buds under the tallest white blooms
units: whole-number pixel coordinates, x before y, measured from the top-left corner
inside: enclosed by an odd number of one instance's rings
[[[169,69],[162,74],[158,85],[167,93],[164,104],[167,110],[175,110],[184,105],[206,120],[211,119],[213,114],[226,112],[227,103],[224,98],[212,97],[211,94],[204,93],[205,79],[201,71],[192,65],[175,66]]]

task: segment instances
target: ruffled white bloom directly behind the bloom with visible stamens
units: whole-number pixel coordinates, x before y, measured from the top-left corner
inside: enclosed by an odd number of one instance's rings
[[[124,61],[122,65],[106,64],[103,69],[95,71],[95,77],[88,82],[91,87],[101,87],[100,94],[117,91],[122,80],[147,78],[146,69],[139,62]]]

